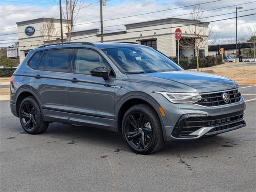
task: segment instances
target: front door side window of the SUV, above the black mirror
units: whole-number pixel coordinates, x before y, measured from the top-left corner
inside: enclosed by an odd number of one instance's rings
[[[78,49],[76,55],[75,72],[91,74],[90,71],[96,67],[107,68],[106,61],[97,52],[88,49]]]

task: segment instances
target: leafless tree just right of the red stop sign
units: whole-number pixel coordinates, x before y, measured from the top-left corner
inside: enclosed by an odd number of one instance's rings
[[[208,44],[216,42],[216,36],[212,32],[213,26],[209,26],[208,22],[201,22],[204,14],[204,9],[200,4],[195,5],[190,12],[190,19],[193,24],[188,26],[183,38],[180,40],[180,45],[184,49],[195,49],[196,52],[196,65],[199,71],[199,49],[208,48]],[[209,42],[208,42],[209,40]]]

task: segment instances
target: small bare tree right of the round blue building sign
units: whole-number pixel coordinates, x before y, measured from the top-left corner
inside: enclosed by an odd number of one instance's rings
[[[45,43],[50,43],[52,40],[56,40],[59,30],[54,24],[53,18],[44,18],[41,27],[41,34]]]

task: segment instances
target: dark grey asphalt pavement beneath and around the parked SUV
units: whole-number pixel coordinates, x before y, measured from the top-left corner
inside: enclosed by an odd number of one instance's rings
[[[256,98],[256,86],[241,92],[250,94],[245,100]],[[53,123],[43,134],[25,134],[2,101],[0,191],[255,191],[256,100],[246,104],[245,128],[167,142],[146,156],[107,130]]]

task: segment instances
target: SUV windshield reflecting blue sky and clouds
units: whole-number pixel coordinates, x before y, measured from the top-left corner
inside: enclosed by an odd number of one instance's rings
[[[106,48],[103,51],[124,73],[152,73],[183,70],[172,60],[150,47]]]

